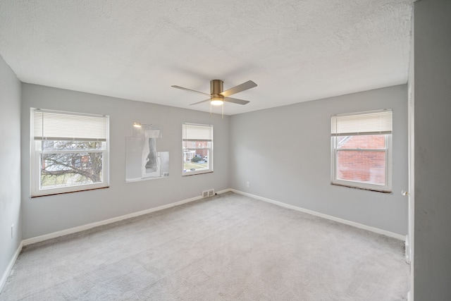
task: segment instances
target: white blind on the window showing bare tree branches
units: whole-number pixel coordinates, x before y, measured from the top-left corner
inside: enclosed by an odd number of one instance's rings
[[[107,116],[35,109],[32,122],[35,140],[106,141],[108,135]]]

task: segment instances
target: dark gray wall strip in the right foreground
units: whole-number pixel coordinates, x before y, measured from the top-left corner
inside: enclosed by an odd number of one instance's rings
[[[451,1],[415,2],[415,300],[451,300]]]

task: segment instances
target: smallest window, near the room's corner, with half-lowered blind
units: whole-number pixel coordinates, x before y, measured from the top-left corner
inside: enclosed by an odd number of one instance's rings
[[[183,123],[183,176],[213,171],[213,125]]]

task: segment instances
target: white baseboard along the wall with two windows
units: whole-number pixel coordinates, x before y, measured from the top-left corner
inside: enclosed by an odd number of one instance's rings
[[[219,194],[221,192],[216,192],[216,193]],[[194,202],[194,201],[197,201],[198,199],[202,199],[202,196],[191,197],[190,199],[183,199],[183,200],[181,200],[179,202],[173,202],[171,204],[166,204],[166,205],[155,207],[155,208],[151,208],[151,209],[146,209],[146,210],[142,210],[142,211],[133,212],[133,213],[130,213],[130,214],[125,214],[125,215],[122,215],[122,216],[113,217],[112,219],[105,219],[104,221],[96,221],[94,223],[88,223],[87,225],[78,226],[78,227],[74,227],[74,228],[68,228],[66,230],[57,231],[57,232],[49,233],[49,234],[44,234],[44,235],[36,236],[34,238],[27,238],[27,239],[23,240],[22,242],[23,242],[24,246],[25,245],[31,245],[33,243],[42,242],[44,240],[49,240],[51,238],[58,238],[58,237],[63,236],[63,235],[68,235],[68,234],[73,234],[73,233],[89,230],[89,229],[92,229],[92,228],[95,228],[95,227],[98,227],[98,226],[108,225],[109,223],[116,223],[116,221],[123,221],[124,219],[131,219],[132,217],[141,216],[141,215],[144,215],[144,214],[149,214],[149,213],[154,212],[154,211],[160,211],[160,210],[163,210],[163,209],[179,206],[181,204]]]

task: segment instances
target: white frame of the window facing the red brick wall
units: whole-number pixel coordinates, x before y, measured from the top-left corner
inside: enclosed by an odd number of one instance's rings
[[[371,114],[371,113],[378,113],[383,111],[390,111],[390,114],[393,114],[392,110],[378,110],[378,111],[367,111],[367,112],[359,112],[359,113],[348,113],[348,114],[340,114],[340,115],[333,115],[330,118],[331,123],[333,123],[334,118],[340,117],[340,116],[359,116],[359,115],[365,115],[365,114]],[[390,122],[392,122],[393,115],[390,116]],[[393,191],[392,188],[392,173],[393,173],[393,130],[390,129],[388,132],[381,132],[381,133],[374,133],[374,132],[361,132],[361,133],[347,133],[345,135],[339,135],[338,133],[333,133],[334,125],[331,125],[331,133],[330,133],[330,183],[332,185],[340,185],[345,186],[349,188],[359,188],[364,190],[372,190],[376,192],[385,192],[390,193]],[[390,128],[392,125],[390,124]],[[335,126],[335,132],[336,132],[336,126]],[[376,149],[376,148],[355,148],[355,149],[339,149],[337,138],[341,136],[359,136],[359,135],[384,135],[385,136],[385,148]],[[359,182],[357,180],[342,180],[337,178],[338,168],[337,168],[337,161],[338,161],[338,152],[352,152],[352,151],[362,151],[362,152],[385,152],[385,184],[384,185],[378,185],[373,183],[366,183],[366,182]]]

